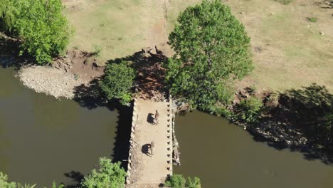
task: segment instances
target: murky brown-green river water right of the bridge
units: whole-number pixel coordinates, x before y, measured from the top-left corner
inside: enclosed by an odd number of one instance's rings
[[[204,188],[332,188],[333,166],[276,150],[221,117],[194,112],[176,117],[181,167]]]

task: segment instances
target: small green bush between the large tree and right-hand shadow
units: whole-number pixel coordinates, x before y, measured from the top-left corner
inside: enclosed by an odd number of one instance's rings
[[[233,117],[236,120],[247,123],[258,122],[263,108],[263,101],[259,98],[251,97],[247,100],[242,100],[236,105]]]

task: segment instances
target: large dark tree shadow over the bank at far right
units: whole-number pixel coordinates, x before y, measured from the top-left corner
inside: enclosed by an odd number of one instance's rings
[[[270,140],[255,128],[300,144]],[[249,132],[258,142],[267,142],[277,150],[301,152],[307,160],[333,164],[333,95],[324,86],[313,83],[302,89],[279,93],[278,104]],[[300,142],[301,136],[306,142]],[[304,139],[303,139],[304,140]]]

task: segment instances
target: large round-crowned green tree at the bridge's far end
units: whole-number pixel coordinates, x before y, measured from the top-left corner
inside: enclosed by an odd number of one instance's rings
[[[166,63],[171,94],[202,110],[229,103],[231,81],[253,68],[244,26],[218,0],[188,7],[178,22],[169,36],[176,55]]]

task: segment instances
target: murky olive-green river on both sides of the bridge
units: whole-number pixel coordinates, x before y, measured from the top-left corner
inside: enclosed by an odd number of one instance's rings
[[[69,172],[87,174],[98,157],[112,156],[117,110],[89,110],[35,93],[13,75],[13,68],[0,68],[0,171],[11,181],[75,184]],[[331,165],[255,142],[221,117],[198,111],[177,115],[176,136],[181,167],[174,173],[200,177],[203,188],[333,187]]]

